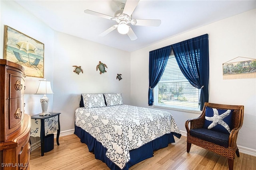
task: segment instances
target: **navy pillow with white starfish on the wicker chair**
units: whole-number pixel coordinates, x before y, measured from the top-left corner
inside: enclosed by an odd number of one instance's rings
[[[204,128],[229,134],[234,110],[206,107]]]

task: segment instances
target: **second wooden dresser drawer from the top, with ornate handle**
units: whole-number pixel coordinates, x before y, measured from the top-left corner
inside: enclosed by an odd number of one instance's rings
[[[21,123],[24,116],[24,104],[22,104],[22,97],[8,99],[6,101],[6,108],[8,111],[6,113],[6,121],[8,121],[8,126],[6,126],[6,136],[10,135],[16,131]]]

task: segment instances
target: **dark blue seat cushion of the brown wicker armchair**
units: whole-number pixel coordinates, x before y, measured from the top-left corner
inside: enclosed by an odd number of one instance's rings
[[[228,148],[229,134],[212,131],[210,129],[205,128],[198,128],[190,129],[190,135],[202,139],[204,141],[215,143],[216,145]]]

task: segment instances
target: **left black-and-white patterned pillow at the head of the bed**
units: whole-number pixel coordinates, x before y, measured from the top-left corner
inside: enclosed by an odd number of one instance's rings
[[[85,108],[106,106],[103,94],[82,94]]]

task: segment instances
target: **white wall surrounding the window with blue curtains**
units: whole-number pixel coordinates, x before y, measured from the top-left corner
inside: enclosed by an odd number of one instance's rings
[[[237,144],[256,149],[256,79],[223,80],[222,78],[223,63],[238,56],[256,59],[256,10],[214,22],[132,52],[131,104],[149,107],[149,51],[206,33],[209,34],[209,102],[244,105],[244,123],[239,131]],[[172,113],[182,131],[186,131],[184,123],[187,119],[198,117],[198,114],[193,113],[166,111]]]

